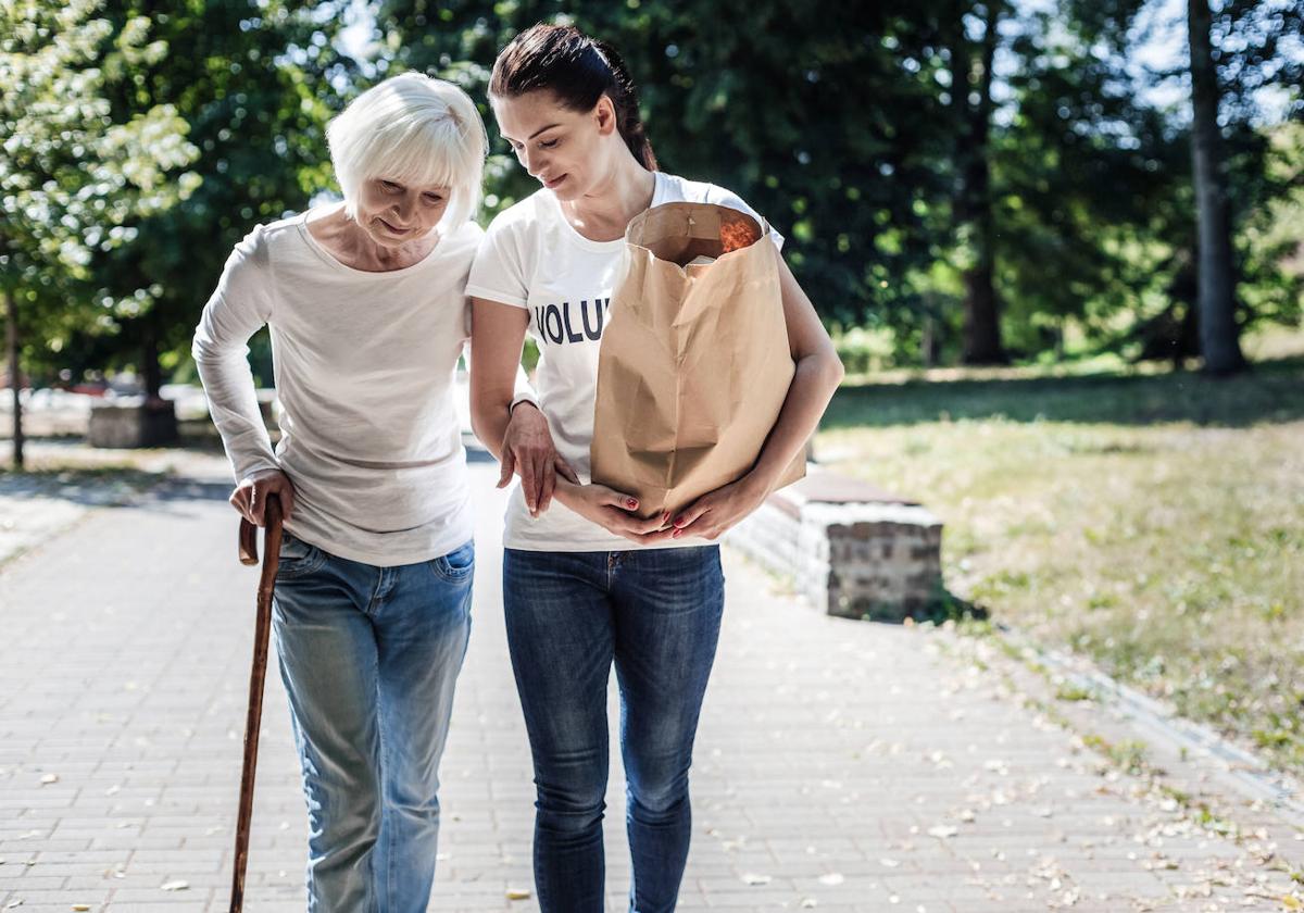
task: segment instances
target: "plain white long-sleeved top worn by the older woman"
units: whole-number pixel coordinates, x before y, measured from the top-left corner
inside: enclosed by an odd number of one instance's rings
[[[473,532],[454,372],[484,231],[468,223],[412,266],[368,273],[331,256],[310,218],[258,226],[236,245],[194,334],[236,479],[284,471],[286,528],[333,554],[377,566],[447,554]],[[282,406],[275,453],[245,346],[263,323]]]

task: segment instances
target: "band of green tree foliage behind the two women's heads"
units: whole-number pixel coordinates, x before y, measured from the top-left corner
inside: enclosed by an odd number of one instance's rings
[[[155,386],[150,365],[184,359],[235,241],[331,185],[325,124],[366,85],[406,69],[458,82],[494,137],[486,215],[533,192],[485,86],[512,35],[562,21],[622,51],[662,167],[748,200],[788,236],[825,320],[883,329],[897,360],[971,355],[985,300],[998,359],[1074,346],[1180,359],[1197,339],[1189,103],[1153,90],[1189,86],[1181,61],[1136,61],[1153,8],[378,0],[365,48],[346,52],[346,0],[10,1],[7,60],[68,40],[44,76],[5,80],[23,87],[0,128],[7,210],[22,214],[3,230],[4,282],[33,312],[33,364],[136,364]],[[1300,313],[1283,263],[1301,231],[1279,222],[1297,211],[1304,153],[1277,125],[1304,103],[1300,18],[1286,0],[1213,14],[1240,325]],[[42,93],[72,102],[42,108]],[[69,130],[82,138],[44,154],[47,180],[34,150]],[[133,158],[155,163],[154,184]]]

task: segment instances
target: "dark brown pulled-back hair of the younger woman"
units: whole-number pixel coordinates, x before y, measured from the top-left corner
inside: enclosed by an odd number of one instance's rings
[[[639,116],[638,90],[625,61],[606,42],[572,26],[539,25],[516,35],[493,64],[489,94],[515,98],[546,89],[571,111],[592,111],[608,95],[615,108],[615,129],[634,158],[656,171],[656,155]]]

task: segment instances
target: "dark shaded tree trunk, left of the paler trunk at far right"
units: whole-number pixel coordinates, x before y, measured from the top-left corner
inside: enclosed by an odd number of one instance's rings
[[[994,277],[996,271],[996,226],[991,209],[991,167],[987,162],[991,134],[992,61],[999,38],[1001,0],[986,4],[986,30],[981,60],[973,60],[964,31],[964,16],[956,17],[956,40],[951,57],[951,98],[956,111],[956,223],[961,244],[971,249],[971,262],[964,270],[965,283],[965,364],[1007,364],[1000,343],[1000,303]],[[977,85],[973,74],[977,69]],[[969,100],[977,90],[978,102]]]

